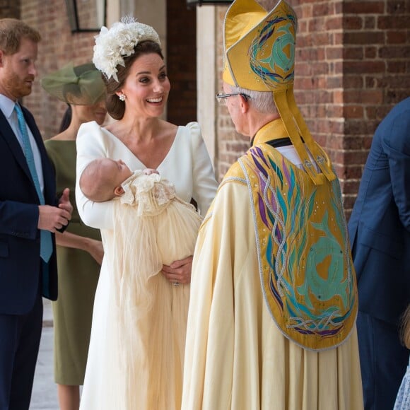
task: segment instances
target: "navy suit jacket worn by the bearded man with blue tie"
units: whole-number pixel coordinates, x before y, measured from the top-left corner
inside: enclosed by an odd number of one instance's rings
[[[33,115],[23,107],[25,121],[40,150],[45,203],[56,205],[54,170],[47,157]],[[23,150],[0,110],[0,314],[22,315],[34,304],[40,278],[40,201]],[[57,263],[54,252],[43,295],[57,299]],[[41,286],[41,284],[40,284]]]

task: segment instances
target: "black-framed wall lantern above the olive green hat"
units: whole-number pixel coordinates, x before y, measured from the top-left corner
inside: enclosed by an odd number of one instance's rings
[[[71,33],[98,32],[107,21],[107,0],[66,0]]]

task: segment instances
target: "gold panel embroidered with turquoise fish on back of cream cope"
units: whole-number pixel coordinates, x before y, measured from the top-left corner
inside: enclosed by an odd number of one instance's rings
[[[357,314],[339,181],[315,185],[266,144],[250,148],[238,162],[251,196],[262,290],[274,322],[304,348],[338,346]]]

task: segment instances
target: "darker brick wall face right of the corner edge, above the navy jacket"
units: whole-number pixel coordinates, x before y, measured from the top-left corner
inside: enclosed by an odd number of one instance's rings
[[[410,95],[410,1],[346,1],[344,13],[344,182],[349,211],[373,133]]]

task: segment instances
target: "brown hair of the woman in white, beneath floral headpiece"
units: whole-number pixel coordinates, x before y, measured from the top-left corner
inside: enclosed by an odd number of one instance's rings
[[[116,93],[122,88],[122,86],[124,86],[124,82],[129,74],[131,65],[141,55],[151,53],[156,53],[161,57],[161,59],[164,59],[161,47],[156,42],[153,42],[151,40],[139,42],[134,47],[134,54],[131,54],[129,57],[124,57],[124,66],[117,66],[118,81],[115,81],[115,79],[112,77],[107,79],[102,76],[102,79],[104,80],[105,86],[107,88],[107,112],[111,115],[112,118],[122,119],[122,117],[124,117],[125,102],[119,100]]]

